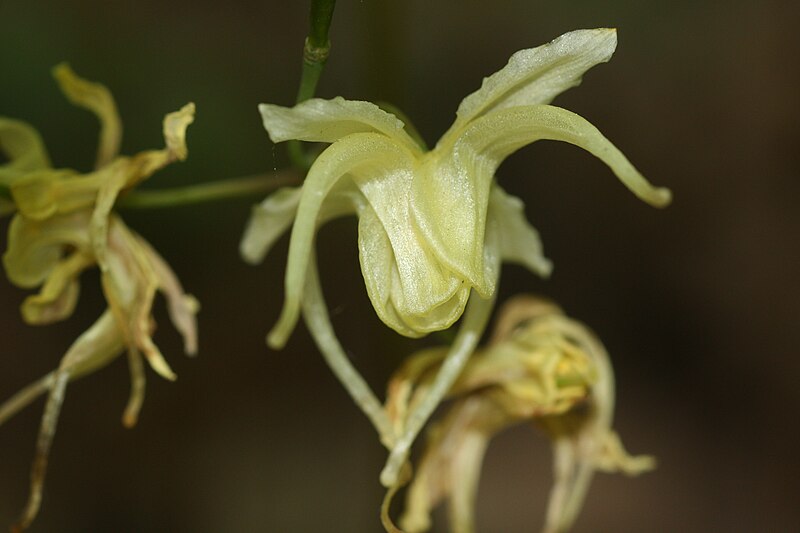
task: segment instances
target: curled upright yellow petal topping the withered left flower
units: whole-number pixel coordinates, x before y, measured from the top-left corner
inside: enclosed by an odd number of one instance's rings
[[[95,168],[107,165],[117,156],[122,141],[122,122],[111,92],[105,85],[79,77],[66,63],[56,66],[53,76],[70,102],[88,109],[100,119],[100,142]]]

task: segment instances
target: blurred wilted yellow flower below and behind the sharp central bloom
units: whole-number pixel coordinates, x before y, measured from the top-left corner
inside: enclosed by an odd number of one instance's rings
[[[399,430],[446,353],[417,353],[393,376],[387,410]],[[517,297],[503,307],[491,342],[470,358],[448,397],[452,404],[430,427],[408,489],[401,525],[409,533],[428,530],[432,509],[445,499],[452,531],[475,530],[486,448],[515,424],[538,422],[553,440],[549,533],[565,531],[575,520],[594,470],[635,475],[654,466],[651,457],[629,456],[611,430],[614,376],[602,344],[543,300]]]

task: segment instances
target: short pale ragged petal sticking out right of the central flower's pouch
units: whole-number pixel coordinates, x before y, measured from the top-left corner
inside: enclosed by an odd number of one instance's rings
[[[550,275],[553,265],[542,252],[539,232],[525,218],[522,200],[495,184],[489,196],[488,216],[497,224],[503,261],[518,263],[543,278]]]

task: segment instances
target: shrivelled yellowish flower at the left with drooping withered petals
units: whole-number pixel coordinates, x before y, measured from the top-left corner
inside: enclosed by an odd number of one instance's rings
[[[184,349],[197,351],[195,314],[198,304],[184,293],[169,265],[113,212],[117,196],[173,161],[186,158],[186,128],[194,117],[188,104],[164,119],[166,147],[132,157],[118,155],[121,125],[106,87],[77,77],[66,65],[54,70],[61,90],[74,104],[100,119],[96,169],[80,174],[55,169],[36,130],[0,118],[0,148],[9,162],[0,166],[0,185],[10,190],[5,211],[16,212],[9,226],[3,265],[9,280],[22,288],[40,287],[22,304],[28,324],[68,318],[77,303],[80,274],[100,268],[108,309],[67,350],[58,368],[0,405],[0,424],[48,393],[31,473],[31,493],[17,527],[36,516],[45,466],[58,413],[69,381],[110,363],[127,352],[131,395],[123,415],[136,423],[144,399],[143,358],[161,376],[175,379],[151,335],[157,291],[166,297],[170,318],[184,339]]]

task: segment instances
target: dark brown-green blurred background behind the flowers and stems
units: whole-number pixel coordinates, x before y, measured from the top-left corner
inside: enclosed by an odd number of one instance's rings
[[[577,532],[800,531],[798,5],[339,1],[318,94],[390,101],[430,144],[514,51],[619,29],[613,60],[556,104],[670,187],[673,205],[643,204],[567,145],[535,144],[498,173],[555,263],[546,282],[506,267],[500,299],[538,292],[597,331],[617,371],[616,429],[659,459],[639,479],[598,475]],[[197,104],[188,161],[145,186],[281,167],[285,149],[270,145],[256,105],[293,101],[306,16],[306,2],[0,0],[0,115],[37,127],[57,166],[89,169],[96,119],[50,76],[68,60],[112,89],[124,153],[162,146],[163,115]],[[156,342],[179,379],[149,372],[135,429],[120,424],[124,359],[69,387],[33,531],[380,531],[385,452],[371,427],[302,327],[282,352],[264,345],[287,242],[262,266],[239,260],[258,200],[123,213],[202,302],[200,356],[183,357],[159,302]],[[343,220],[322,231],[323,282],[342,341],[381,389],[419,344],[375,318],[355,230]],[[57,365],[104,308],[98,285],[84,275],[75,315],[33,328],[18,314],[28,293],[3,277],[0,397]],[[0,528],[25,502],[41,409],[0,428]],[[502,434],[485,463],[480,530],[537,531],[550,481],[540,434]]]

